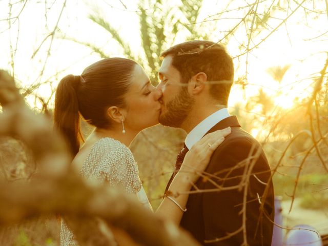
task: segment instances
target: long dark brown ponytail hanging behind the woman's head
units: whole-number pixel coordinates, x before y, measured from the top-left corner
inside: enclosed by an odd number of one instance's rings
[[[79,151],[80,131],[77,90],[81,76],[67,75],[60,80],[55,96],[54,125],[64,135],[72,154]]]

